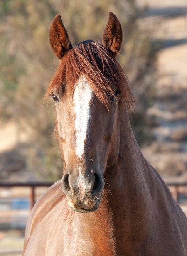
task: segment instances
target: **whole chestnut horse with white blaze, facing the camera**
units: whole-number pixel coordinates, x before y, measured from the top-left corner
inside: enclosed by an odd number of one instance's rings
[[[52,22],[60,62],[47,95],[64,173],[30,214],[24,256],[187,256],[187,218],[130,126],[133,97],[115,58],[122,37],[111,12],[102,44],[72,47],[60,15]]]

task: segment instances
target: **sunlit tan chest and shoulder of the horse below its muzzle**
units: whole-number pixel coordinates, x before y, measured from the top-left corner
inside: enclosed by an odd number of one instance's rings
[[[61,203],[42,219],[30,236],[24,256],[116,255],[113,229],[106,217],[100,222],[100,214],[96,212],[79,214],[62,209]]]

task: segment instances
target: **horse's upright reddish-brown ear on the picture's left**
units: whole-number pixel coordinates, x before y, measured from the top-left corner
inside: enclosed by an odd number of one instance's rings
[[[62,59],[70,49],[72,49],[68,33],[62,23],[61,17],[58,14],[54,17],[49,29],[49,42],[54,54]]]

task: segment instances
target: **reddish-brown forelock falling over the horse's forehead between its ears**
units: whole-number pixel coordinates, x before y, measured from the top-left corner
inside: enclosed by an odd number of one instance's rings
[[[116,59],[99,42],[83,41],[75,45],[60,61],[57,72],[54,74],[46,96],[60,86],[69,84],[71,89],[79,78],[84,76],[89,82],[96,97],[108,108],[112,84],[116,84],[122,96],[128,113],[133,106],[133,95],[130,91],[128,79]]]

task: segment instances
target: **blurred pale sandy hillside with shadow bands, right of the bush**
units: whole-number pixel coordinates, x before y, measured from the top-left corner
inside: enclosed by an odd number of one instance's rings
[[[155,102],[147,115],[158,126],[145,157],[166,180],[187,181],[187,1],[137,0],[147,8],[139,25],[150,29],[157,52]],[[172,177],[170,177],[172,176]]]

